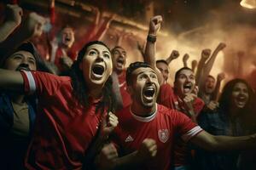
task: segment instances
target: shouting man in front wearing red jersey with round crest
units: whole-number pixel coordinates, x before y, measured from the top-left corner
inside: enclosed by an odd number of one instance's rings
[[[99,167],[169,170],[173,166],[173,146],[177,137],[212,151],[255,148],[256,134],[213,136],[181,112],[156,104],[160,85],[148,64],[132,63],[126,71],[126,82],[131,105],[117,113],[119,125],[112,137],[114,146],[109,144],[103,148],[99,158],[109,161]]]

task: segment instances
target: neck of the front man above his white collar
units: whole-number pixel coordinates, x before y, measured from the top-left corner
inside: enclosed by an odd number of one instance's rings
[[[142,105],[137,105],[137,102],[132,102],[131,104],[131,112],[136,116],[151,116],[156,111],[156,104],[152,107],[144,107]]]

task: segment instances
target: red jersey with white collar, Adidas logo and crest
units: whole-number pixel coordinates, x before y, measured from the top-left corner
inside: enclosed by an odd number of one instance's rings
[[[156,141],[156,156],[137,169],[171,169],[173,145],[177,136],[189,141],[202,131],[188,116],[163,105],[157,105],[155,113],[148,117],[132,114],[129,106],[119,111],[117,116],[119,125],[114,130],[113,143],[119,150],[119,156],[138,150],[144,139]]]

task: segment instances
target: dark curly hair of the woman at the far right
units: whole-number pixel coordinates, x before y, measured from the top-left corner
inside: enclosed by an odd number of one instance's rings
[[[247,83],[247,81],[245,81],[244,79],[236,78],[226,83],[226,85],[223,88],[223,92],[218,100],[219,107],[224,111],[224,113],[228,113],[230,111],[230,108],[232,107],[231,95],[232,95],[233,88],[236,86],[238,82],[244,83],[247,86],[247,90],[249,94],[247,104],[242,109],[242,111],[250,111],[253,107],[253,99],[254,99],[253,88],[251,88],[250,85]]]

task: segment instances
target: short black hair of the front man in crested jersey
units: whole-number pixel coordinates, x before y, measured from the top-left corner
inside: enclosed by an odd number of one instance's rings
[[[126,70],[126,83],[127,83],[127,86],[130,86],[131,85],[131,82],[132,82],[132,79],[131,79],[131,74],[133,71],[137,70],[138,68],[141,68],[141,67],[144,67],[144,68],[152,68],[150,65],[148,65],[147,63],[145,62],[141,62],[141,61],[137,61],[137,62],[134,62],[134,63],[131,63],[129,65],[129,67],[127,68]]]

